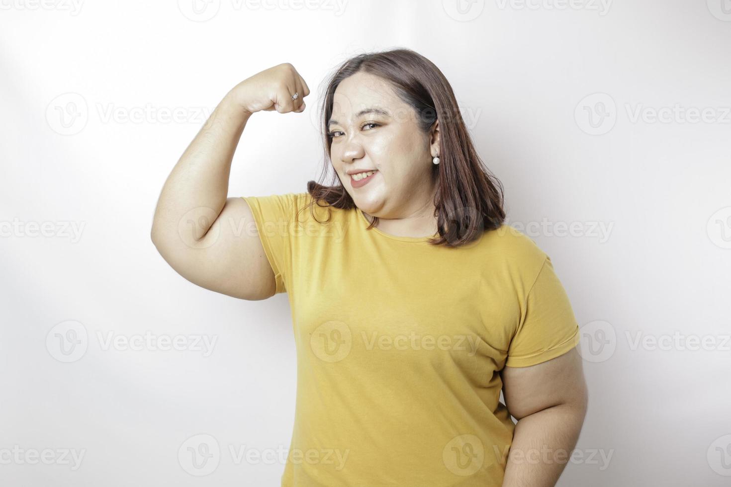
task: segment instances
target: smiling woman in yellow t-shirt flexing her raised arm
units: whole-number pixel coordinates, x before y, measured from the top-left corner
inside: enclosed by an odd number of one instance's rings
[[[298,388],[281,485],[553,486],[586,413],[577,322],[550,258],[504,224],[450,84],[408,49],[349,59],[321,109],[332,183],[227,199],[251,115],[302,112],[308,94],[292,64],[232,88],[152,229],[197,285],[289,294]]]

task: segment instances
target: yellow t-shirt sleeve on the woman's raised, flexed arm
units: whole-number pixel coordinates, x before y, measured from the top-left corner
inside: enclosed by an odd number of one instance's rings
[[[251,208],[257,234],[274,272],[275,294],[287,291],[289,269],[292,269],[292,223],[298,196],[299,193],[241,196]]]

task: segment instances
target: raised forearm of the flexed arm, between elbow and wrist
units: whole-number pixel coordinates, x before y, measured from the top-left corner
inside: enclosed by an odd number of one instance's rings
[[[208,231],[226,203],[231,161],[250,116],[233,91],[224,96],[165,180],[153,218],[153,239],[178,238],[178,222],[194,208],[215,212],[206,215],[214,218],[200,219],[194,226],[194,237]]]

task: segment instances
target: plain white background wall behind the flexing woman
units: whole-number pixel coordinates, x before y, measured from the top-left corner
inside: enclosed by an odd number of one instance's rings
[[[229,195],[306,191],[320,83],[390,47],[450,80],[508,223],[552,258],[582,327],[590,408],[558,485],[731,481],[729,1],[0,6],[3,486],[279,486],[295,406],[287,296],[246,302],[183,279],[150,240],[154,207],[204,113],[282,62],[308,108],[249,120]],[[147,331],[216,342],[208,356],[106,346]],[[184,459],[201,440],[220,448],[205,476]],[[45,449],[50,464],[31,464]]]

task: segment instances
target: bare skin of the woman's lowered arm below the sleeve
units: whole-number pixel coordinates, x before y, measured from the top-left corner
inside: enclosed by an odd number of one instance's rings
[[[503,487],[553,487],[571,458],[588,406],[578,347],[531,367],[504,367],[503,396],[518,420]]]

